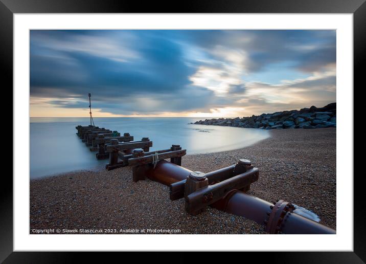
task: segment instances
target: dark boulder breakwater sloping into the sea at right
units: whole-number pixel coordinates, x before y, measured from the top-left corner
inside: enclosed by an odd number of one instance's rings
[[[261,129],[335,127],[336,103],[330,103],[320,108],[311,106],[310,108],[302,108],[300,110],[262,114],[260,116],[205,119],[191,124]]]

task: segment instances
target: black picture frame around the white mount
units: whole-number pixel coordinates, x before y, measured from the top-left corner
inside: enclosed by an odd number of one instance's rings
[[[179,3],[146,1],[143,4],[138,1],[118,0],[0,0],[0,63],[3,64],[3,83],[11,86],[13,85],[13,14],[15,13],[352,13],[354,19],[354,86],[364,86],[362,69],[366,61],[364,49],[366,43],[365,0],[196,0],[195,2]],[[350,87],[350,92],[352,90],[353,87]],[[354,112],[357,115],[356,111]],[[19,155],[19,153],[15,153],[15,155]],[[355,156],[354,164],[357,164],[360,159],[361,157]],[[351,179],[352,171],[350,168],[350,175],[343,176]],[[354,177],[353,252],[262,252],[260,253],[261,258],[282,263],[363,263],[366,261],[366,251],[364,250],[366,248],[366,228],[363,223],[366,209],[362,205],[364,198],[361,181],[361,177]],[[13,252],[13,181],[10,177],[2,179],[0,195],[1,262],[63,263],[72,262],[74,257],[80,254],[84,261],[87,261],[87,258],[96,260],[94,253]],[[152,254],[161,258],[163,253]],[[253,253],[240,254],[246,254],[247,259],[247,254]],[[215,257],[215,254],[211,254],[211,256]],[[151,259],[151,256],[149,257]],[[191,257],[190,254],[185,254],[176,259],[180,259],[177,260],[179,262],[186,262]],[[241,261],[244,261],[242,256]]]

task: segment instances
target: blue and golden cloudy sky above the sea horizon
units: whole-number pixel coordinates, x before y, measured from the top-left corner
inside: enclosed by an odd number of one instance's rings
[[[30,116],[244,117],[336,101],[335,30],[31,30]]]

